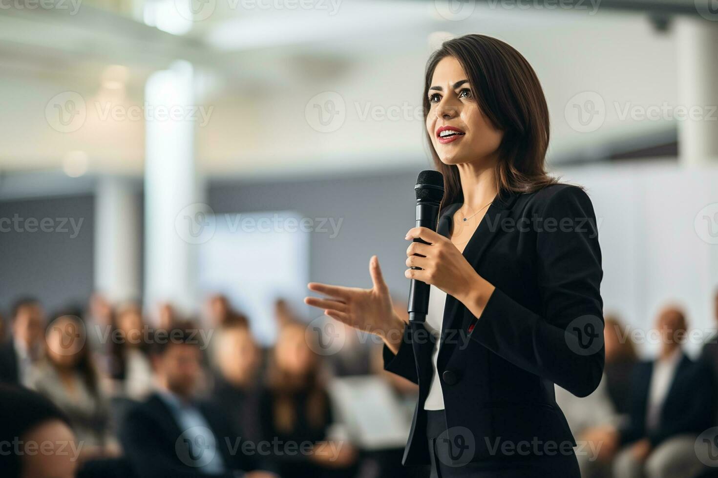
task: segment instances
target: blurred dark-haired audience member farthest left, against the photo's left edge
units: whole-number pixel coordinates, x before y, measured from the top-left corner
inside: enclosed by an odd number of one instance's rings
[[[9,336],[0,344],[0,383],[29,385],[32,368],[43,352],[45,319],[37,300],[15,302]]]

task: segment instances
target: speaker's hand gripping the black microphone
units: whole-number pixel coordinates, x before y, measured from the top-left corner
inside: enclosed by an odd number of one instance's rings
[[[426,227],[414,227],[409,229],[404,239],[416,238],[429,244],[412,242],[406,249],[406,266],[421,267],[421,270],[406,269],[406,277],[439,287],[461,302],[477,293],[485,297],[491,295],[493,285],[477,274],[464,254],[447,237]]]

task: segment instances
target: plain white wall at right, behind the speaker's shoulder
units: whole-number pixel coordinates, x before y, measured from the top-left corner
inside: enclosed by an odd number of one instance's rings
[[[605,310],[648,330],[659,308],[673,302],[691,327],[709,334],[718,289],[718,166],[647,162],[560,173],[587,188],[600,221]],[[686,345],[698,349],[695,341]],[[655,341],[639,350],[654,353]]]

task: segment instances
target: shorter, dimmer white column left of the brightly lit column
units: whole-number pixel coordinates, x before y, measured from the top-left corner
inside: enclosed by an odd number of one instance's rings
[[[140,201],[129,178],[103,177],[95,189],[95,290],[111,302],[140,297]]]

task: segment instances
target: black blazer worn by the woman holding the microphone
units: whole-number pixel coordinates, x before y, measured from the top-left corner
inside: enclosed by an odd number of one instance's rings
[[[439,234],[449,236],[460,206],[442,208]],[[505,454],[504,442],[516,447],[536,439],[546,454],[570,449],[575,441],[554,383],[587,396],[604,365],[603,272],[591,201],[565,184],[504,193],[463,255],[495,290],[479,320],[447,295],[437,368],[449,439],[466,443],[459,435],[470,431],[475,452],[469,461],[528,457]],[[412,323],[396,355],[386,345],[383,350],[387,371],[419,384],[404,464],[429,463],[424,401],[433,344],[427,337],[423,324]]]

